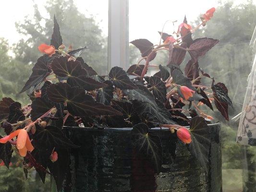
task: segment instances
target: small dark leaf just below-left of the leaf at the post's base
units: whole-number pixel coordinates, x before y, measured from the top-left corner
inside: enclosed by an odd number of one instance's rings
[[[96,95],[96,101],[98,103],[102,103],[104,105],[110,105],[110,101],[113,98],[113,83],[109,80],[105,81],[104,84],[107,84],[108,86],[105,86],[103,88],[100,88],[98,90],[98,93]]]

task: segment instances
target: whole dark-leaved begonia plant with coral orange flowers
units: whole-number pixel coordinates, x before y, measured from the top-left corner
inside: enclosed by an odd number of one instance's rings
[[[147,39],[132,41],[142,58],[127,71],[116,66],[104,77],[80,57],[86,47],[65,50],[54,16],[50,43],[38,47],[43,55],[21,90],[29,93],[31,103],[22,106],[9,97],[0,101],[1,128],[6,133],[0,138],[1,165],[9,168],[15,152],[21,156],[26,176],[27,170],[34,167],[43,182],[46,174],[52,175],[60,190],[69,171],[71,149],[80,147],[65,136],[63,127],[131,127],[134,147],[149,156],[159,169],[161,141],[150,129],[164,127],[188,145],[207,173],[210,147],[207,123],[213,118],[200,108],[204,105],[213,110],[214,102],[229,120],[228,106],[232,106],[225,84],[215,83],[199,67],[198,59],[219,40],[192,38],[193,32],[205,26],[214,11],[212,8],[202,15],[202,22],[195,28],[185,17],[171,35],[158,32],[161,39],[158,45]],[[159,65],[154,75],[146,76],[150,61],[159,50],[169,54],[168,63]],[[190,58],[186,63],[185,56]],[[211,84],[203,84],[204,79]]]

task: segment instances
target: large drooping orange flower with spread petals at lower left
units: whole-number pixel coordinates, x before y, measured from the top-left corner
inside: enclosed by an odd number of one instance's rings
[[[34,147],[31,144],[29,136],[27,134],[27,131],[24,129],[18,129],[15,132],[12,132],[11,134],[1,138],[0,143],[5,144],[6,142],[8,142],[9,140],[16,136],[18,136],[16,140],[16,147],[19,150],[19,154],[21,156],[26,156],[27,151],[31,152],[34,150]]]

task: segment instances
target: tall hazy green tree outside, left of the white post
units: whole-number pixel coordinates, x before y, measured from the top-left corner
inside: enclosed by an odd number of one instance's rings
[[[18,32],[25,36],[14,48],[16,59],[24,63],[36,62],[41,55],[37,47],[41,43],[50,42],[55,14],[66,49],[70,45],[73,49],[86,46],[88,49],[81,55],[85,62],[93,66],[99,74],[106,75],[107,38],[102,35],[93,16],[85,17],[77,10],[73,0],[49,0],[45,11],[49,14],[47,18],[42,16],[35,4],[33,18],[27,16],[23,22],[16,23]]]

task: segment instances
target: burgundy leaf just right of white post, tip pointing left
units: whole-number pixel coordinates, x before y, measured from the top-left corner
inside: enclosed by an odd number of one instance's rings
[[[154,49],[153,43],[151,43],[147,39],[136,39],[134,41],[130,42],[133,44],[136,48],[138,48],[141,52],[142,57],[146,57],[150,54],[150,52]],[[156,53],[150,58],[150,60],[155,59]]]

